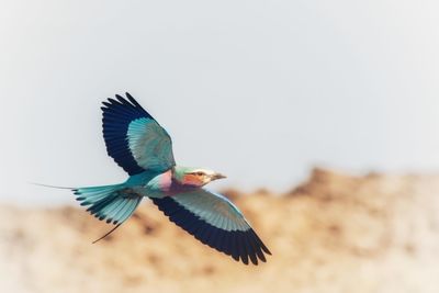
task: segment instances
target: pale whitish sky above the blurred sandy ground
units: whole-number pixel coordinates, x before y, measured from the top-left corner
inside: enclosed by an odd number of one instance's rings
[[[215,188],[313,166],[437,171],[437,1],[1,1],[0,200],[123,181],[100,102],[130,91]]]

